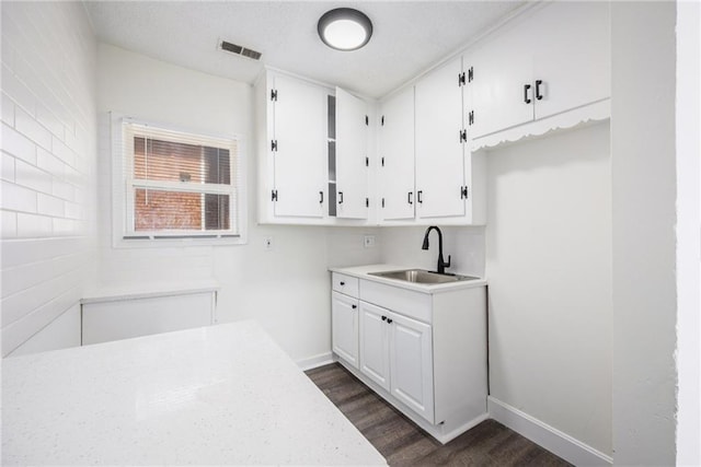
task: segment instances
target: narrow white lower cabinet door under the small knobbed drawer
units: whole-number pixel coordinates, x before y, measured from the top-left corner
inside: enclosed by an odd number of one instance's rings
[[[358,367],[358,300],[338,292],[331,300],[331,341],[336,355]]]

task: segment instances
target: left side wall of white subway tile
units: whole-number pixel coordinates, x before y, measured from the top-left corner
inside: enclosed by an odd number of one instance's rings
[[[80,343],[65,323],[95,262],[95,59],[80,2],[2,2],[3,357],[39,331],[18,353]]]

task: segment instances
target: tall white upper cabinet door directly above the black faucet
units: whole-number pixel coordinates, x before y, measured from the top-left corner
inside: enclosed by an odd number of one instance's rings
[[[416,83],[416,217],[464,215],[462,58]]]

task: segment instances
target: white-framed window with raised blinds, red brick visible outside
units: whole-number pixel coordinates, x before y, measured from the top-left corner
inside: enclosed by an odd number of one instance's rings
[[[242,243],[240,140],[119,120],[115,237]]]

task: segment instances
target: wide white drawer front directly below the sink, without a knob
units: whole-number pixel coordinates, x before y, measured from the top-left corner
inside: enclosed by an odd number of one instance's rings
[[[400,313],[410,318],[432,323],[432,299],[427,293],[372,281],[360,281],[360,300]]]

